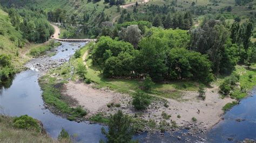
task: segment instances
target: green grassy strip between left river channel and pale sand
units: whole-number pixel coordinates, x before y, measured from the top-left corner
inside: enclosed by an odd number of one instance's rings
[[[43,90],[44,102],[64,113],[67,119],[75,120],[86,115],[86,111],[82,107],[71,108],[69,103],[62,97],[61,90],[64,82],[57,81],[55,77],[46,75],[39,80],[39,83]]]

